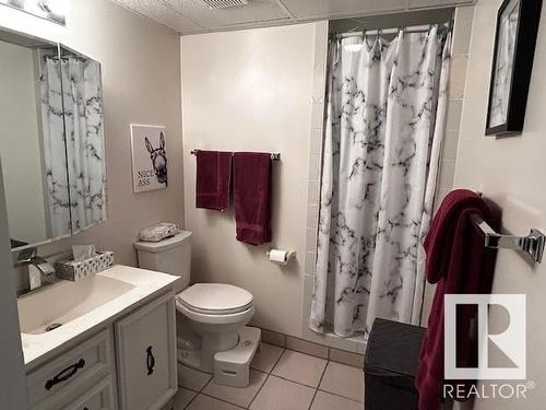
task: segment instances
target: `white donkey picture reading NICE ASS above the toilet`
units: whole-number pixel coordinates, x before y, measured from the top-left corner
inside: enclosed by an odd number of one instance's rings
[[[131,124],[133,192],[164,189],[168,184],[166,128]]]

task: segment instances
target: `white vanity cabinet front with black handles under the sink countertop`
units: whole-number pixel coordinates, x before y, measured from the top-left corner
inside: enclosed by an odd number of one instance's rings
[[[174,292],[105,324],[26,383],[32,410],[162,409],[178,388]]]

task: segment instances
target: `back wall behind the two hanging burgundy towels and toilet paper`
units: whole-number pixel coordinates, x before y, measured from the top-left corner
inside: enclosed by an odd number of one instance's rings
[[[192,279],[254,295],[254,323],[299,336],[316,24],[183,36],[182,119],[186,226]],[[268,245],[235,239],[233,211],[195,209],[194,148],[280,152],[274,166],[273,245],[296,250],[287,267]]]

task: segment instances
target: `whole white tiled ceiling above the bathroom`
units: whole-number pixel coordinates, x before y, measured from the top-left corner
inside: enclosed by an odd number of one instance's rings
[[[399,13],[474,2],[474,0],[248,0],[246,5],[210,9],[203,0],[112,1],[182,35]]]

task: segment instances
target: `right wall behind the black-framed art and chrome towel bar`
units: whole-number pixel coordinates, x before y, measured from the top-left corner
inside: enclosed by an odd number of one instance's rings
[[[525,128],[520,137],[484,137],[490,62],[497,10],[501,0],[479,0],[472,28],[455,187],[482,191],[502,209],[505,229],[525,235],[531,227],[546,231],[546,7],[543,7],[531,80]],[[527,379],[536,383],[526,400],[483,399],[475,409],[543,409],[546,389],[546,262],[531,266],[512,250],[500,250],[495,293],[527,296]],[[503,318],[492,314],[492,326]]]

